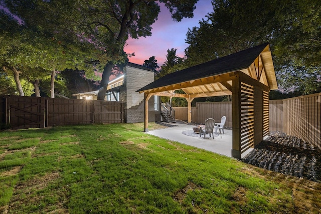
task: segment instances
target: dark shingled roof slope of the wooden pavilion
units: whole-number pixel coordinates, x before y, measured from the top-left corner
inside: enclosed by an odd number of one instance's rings
[[[267,45],[268,43],[264,43],[235,54],[168,74],[142,87],[136,92],[246,69]]]

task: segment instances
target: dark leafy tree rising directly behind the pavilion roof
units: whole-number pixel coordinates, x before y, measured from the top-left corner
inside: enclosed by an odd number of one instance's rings
[[[188,66],[214,60],[267,42],[271,35],[273,1],[212,1],[214,12],[189,29],[185,50]],[[271,6],[272,5],[272,6]]]

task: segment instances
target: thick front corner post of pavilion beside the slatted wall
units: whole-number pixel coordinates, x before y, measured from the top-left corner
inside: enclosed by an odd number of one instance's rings
[[[232,157],[241,159],[241,83],[239,75],[232,89]]]

